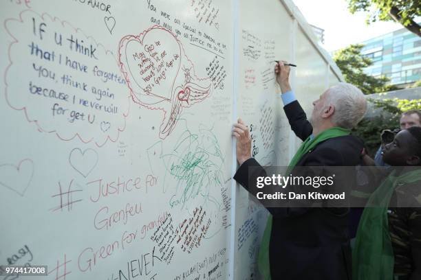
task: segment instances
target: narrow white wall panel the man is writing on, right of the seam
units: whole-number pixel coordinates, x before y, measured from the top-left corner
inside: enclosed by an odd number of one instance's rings
[[[281,1],[239,1],[238,116],[250,127],[252,156],[261,165],[288,164],[288,120],[274,60],[291,59],[291,28]],[[235,279],[259,279],[257,255],[268,211],[239,187],[236,198]]]

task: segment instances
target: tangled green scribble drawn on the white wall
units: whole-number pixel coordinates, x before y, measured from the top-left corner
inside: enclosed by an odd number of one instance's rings
[[[193,214],[195,207],[204,207],[206,217],[212,220],[212,225],[204,239],[210,239],[222,230],[222,215],[224,204],[220,190],[226,185],[224,180],[224,161],[214,128],[200,125],[197,133],[187,128],[186,119],[184,131],[169,147],[169,139],[157,141],[147,149],[149,166],[154,176],[164,165],[162,194],[169,194],[171,209],[185,210]],[[181,128],[182,126],[179,126]],[[213,195],[212,195],[213,194]],[[219,196],[217,195],[219,194]]]

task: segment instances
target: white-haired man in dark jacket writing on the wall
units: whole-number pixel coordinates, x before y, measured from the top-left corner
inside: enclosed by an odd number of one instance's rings
[[[360,163],[363,143],[350,135],[365,115],[367,102],[352,84],[339,83],[313,102],[310,121],[294,97],[289,83],[290,67],[275,67],[285,114],[295,135],[303,140],[289,167],[355,166]],[[251,156],[248,127],[239,119],[233,127],[240,165],[234,179],[257,196],[250,178],[266,174]],[[253,167],[253,168],[250,168]],[[250,173],[250,174],[249,174]],[[352,279],[349,247],[349,208],[267,207],[268,220],[261,250],[259,271],[263,279]]]

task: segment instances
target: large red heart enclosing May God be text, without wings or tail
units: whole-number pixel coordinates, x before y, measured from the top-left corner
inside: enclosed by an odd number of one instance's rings
[[[181,60],[177,38],[159,26],[120,41],[120,65],[127,73],[132,97],[148,108],[162,108],[160,102],[171,102]]]

